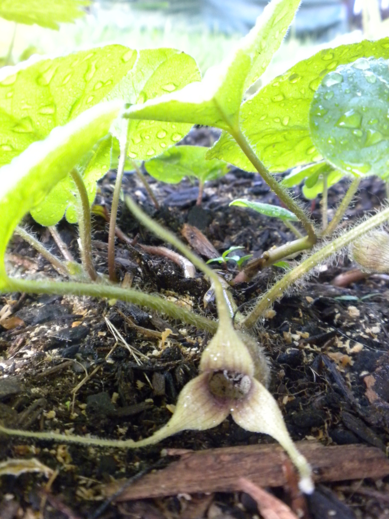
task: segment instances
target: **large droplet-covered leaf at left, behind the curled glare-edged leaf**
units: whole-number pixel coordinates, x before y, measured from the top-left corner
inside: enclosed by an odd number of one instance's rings
[[[45,139],[87,108],[103,101],[132,69],[136,51],[121,45],[80,51],[55,59],[36,58],[0,72],[0,166],[35,141]],[[109,169],[110,155],[100,149],[84,172],[93,201],[92,184]],[[64,180],[33,212],[42,225],[53,225],[74,201],[71,179]],[[74,209],[68,216],[74,221]]]

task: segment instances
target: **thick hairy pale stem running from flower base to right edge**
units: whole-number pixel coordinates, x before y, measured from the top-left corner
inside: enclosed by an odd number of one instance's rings
[[[378,225],[381,225],[387,220],[389,220],[389,208],[379,212],[374,216],[371,216],[366,222],[357,225],[353,229],[350,229],[336,240],[318,250],[312,256],[307,258],[307,260],[300,263],[300,265],[281,278],[280,281],[277,281],[272,286],[272,288],[260,299],[254,310],[250,312],[243,321],[243,326],[246,328],[253,327],[257,320],[263,316],[263,312],[265,312],[265,310],[267,310],[276,301],[276,299],[282,297],[289,286],[308,274],[310,270],[312,270],[318,264],[322,263],[324,260],[326,260],[326,258],[332,254],[335,254],[336,252],[339,252],[356,238],[359,238],[361,235],[368,233],[369,230],[377,227]]]

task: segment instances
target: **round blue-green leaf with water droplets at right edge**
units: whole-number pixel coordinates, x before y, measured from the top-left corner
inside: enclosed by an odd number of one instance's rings
[[[310,111],[312,139],[334,167],[389,177],[389,62],[358,59],[327,74]]]

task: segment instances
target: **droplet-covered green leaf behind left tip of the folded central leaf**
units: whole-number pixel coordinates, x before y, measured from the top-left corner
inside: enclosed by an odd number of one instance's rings
[[[134,69],[109,94],[109,99],[123,99],[132,105],[144,104],[166,92],[179,91],[193,81],[200,81],[196,61],[175,49],[139,51]],[[191,124],[132,120],[128,127],[128,156],[148,160],[180,141]],[[122,129],[115,125],[113,134],[119,139]],[[120,139],[119,139],[120,140]]]

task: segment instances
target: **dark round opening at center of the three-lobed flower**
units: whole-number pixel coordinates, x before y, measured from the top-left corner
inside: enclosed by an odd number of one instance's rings
[[[208,381],[214,397],[224,400],[243,400],[251,388],[251,378],[242,373],[214,371]]]

